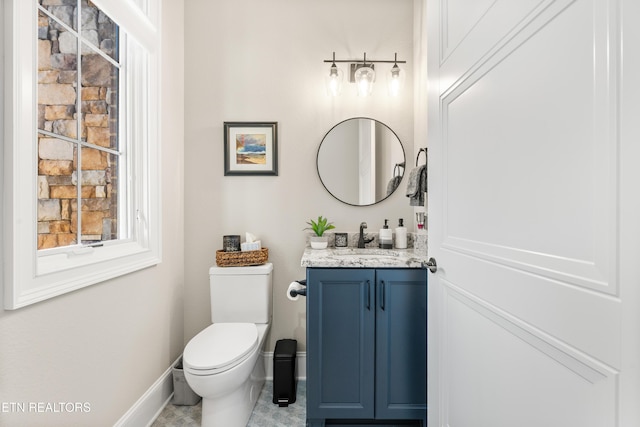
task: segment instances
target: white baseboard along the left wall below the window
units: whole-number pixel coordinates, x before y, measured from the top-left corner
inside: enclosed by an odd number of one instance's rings
[[[182,355],[180,355],[182,357]],[[150,426],[173,397],[173,367],[180,357],[156,380],[114,427]]]

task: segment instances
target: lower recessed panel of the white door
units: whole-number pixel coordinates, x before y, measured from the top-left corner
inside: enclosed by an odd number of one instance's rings
[[[444,304],[451,339],[442,380],[452,398],[442,425],[611,425],[614,371],[450,284]]]

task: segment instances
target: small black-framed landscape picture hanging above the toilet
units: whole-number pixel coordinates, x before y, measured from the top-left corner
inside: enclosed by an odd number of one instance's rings
[[[278,123],[224,122],[224,175],[278,175]]]

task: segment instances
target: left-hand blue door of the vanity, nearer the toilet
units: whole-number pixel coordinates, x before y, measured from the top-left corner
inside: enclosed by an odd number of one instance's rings
[[[307,418],[374,417],[375,272],[307,269]]]

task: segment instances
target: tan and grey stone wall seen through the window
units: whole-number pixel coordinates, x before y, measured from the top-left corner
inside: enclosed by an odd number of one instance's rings
[[[76,0],[40,0],[40,4],[77,31]],[[83,38],[114,58],[115,24],[90,2],[81,6]],[[39,12],[38,129],[117,151],[118,70],[82,46],[78,114],[77,52],[77,37]],[[106,151],[38,133],[39,249],[77,243],[78,212],[83,243],[117,238],[117,161]]]

